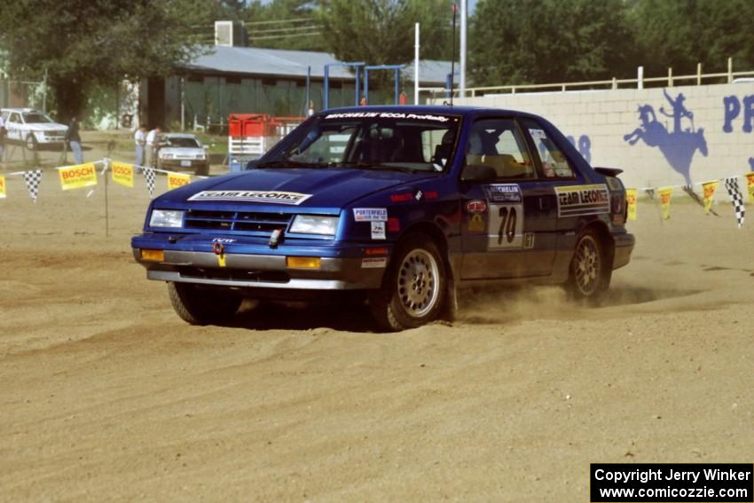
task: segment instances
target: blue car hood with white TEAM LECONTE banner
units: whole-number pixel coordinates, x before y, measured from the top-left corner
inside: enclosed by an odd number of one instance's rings
[[[157,207],[169,204],[174,208],[216,208],[221,205],[239,210],[253,208],[280,212],[307,208],[313,212],[336,213],[368,194],[436,175],[376,169],[251,169],[238,175],[208,178],[185,185],[163,194],[154,204]],[[296,195],[278,196],[278,193]],[[276,197],[284,199],[270,199]]]

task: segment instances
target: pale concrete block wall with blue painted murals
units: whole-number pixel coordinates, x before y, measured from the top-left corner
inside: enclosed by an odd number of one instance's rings
[[[542,115],[593,166],[624,169],[628,186],[685,185],[754,169],[754,83],[501,94],[455,103]]]

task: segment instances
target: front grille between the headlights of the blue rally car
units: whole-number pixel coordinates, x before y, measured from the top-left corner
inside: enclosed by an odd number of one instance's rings
[[[252,236],[269,236],[275,229],[286,229],[292,215],[252,211],[214,211],[190,209],[184,217],[186,229],[239,232]]]

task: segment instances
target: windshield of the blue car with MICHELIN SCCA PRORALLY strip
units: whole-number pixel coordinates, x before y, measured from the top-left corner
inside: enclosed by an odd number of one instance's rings
[[[285,165],[444,171],[456,143],[456,115],[350,112],[318,115],[259,168]]]

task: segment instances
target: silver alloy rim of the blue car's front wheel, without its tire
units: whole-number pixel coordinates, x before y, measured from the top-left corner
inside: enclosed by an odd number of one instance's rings
[[[405,255],[398,270],[398,297],[406,312],[420,318],[435,307],[440,296],[440,270],[435,257],[422,248]]]

